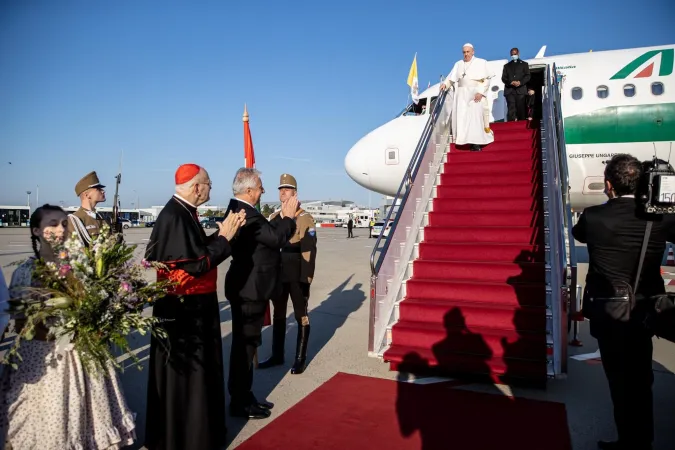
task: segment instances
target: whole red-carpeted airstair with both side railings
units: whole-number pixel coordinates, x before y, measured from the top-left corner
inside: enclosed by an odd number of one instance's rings
[[[482,152],[451,142],[453,91],[439,97],[371,255],[368,351],[392,370],[566,374],[578,293],[556,74],[541,122],[492,124]]]

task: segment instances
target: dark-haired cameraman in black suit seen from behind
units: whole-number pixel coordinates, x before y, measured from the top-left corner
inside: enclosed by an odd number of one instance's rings
[[[618,154],[605,167],[605,194],[609,201],[586,208],[572,229],[574,238],[588,245],[586,290],[635,284],[648,220],[653,221],[642,266],[635,308],[628,322],[590,320],[598,340],[602,366],[614,405],[618,441],[599,441],[611,450],[651,449],[654,438],[652,335],[644,326],[646,298],[665,292],[660,266],[666,241],[675,238],[672,216],[648,215],[636,202],[644,185],[643,164],[631,155]],[[618,283],[617,283],[618,282]]]

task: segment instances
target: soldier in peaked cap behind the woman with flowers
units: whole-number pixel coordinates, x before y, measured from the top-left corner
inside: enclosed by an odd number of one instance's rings
[[[82,244],[87,246],[101,232],[104,222],[110,225],[96,212],[96,205],[105,201],[104,188],[96,172],[89,172],[75,185],[75,195],[80,197],[80,208],[68,215],[68,236],[76,231]]]

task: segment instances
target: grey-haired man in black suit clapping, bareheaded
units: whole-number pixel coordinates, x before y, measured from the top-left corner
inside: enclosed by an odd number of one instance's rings
[[[253,385],[253,358],[261,344],[265,308],[281,288],[281,248],[295,231],[296,196],[281,205],[281,220],[274,225],[254,206],[265,192],[260,172],[241,168],[232,183],[234,199],[228,215],[243,209],[246,222],[232,243],[232,263],[225,277],[225,297],[232,308],[230,351],[230,414],[263,419],[271,415],[271,403],[259,402]]]

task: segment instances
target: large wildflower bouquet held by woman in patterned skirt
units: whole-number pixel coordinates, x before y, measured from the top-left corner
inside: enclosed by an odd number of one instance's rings
[[[141,335],[150,331],[166,337],[158,319],[143,310],[166,295],[172,283],[148,282],[146,269],[162,265],[134,263],[135,249],[106,225],[91,247],[83,246],[75,234],[52,245],[53,261],[35,261],[33,280],[40,287],[21,288],[10,300],[10,312],[25,324],[3,362],[17,368],[21,340],[33,339],[36,327],[42,327],[56,340],[57,351],[76,350],[88,371],[109,364],[120,368],[113,345],[128,353],[140,369],[126,336],[138,330]]]

